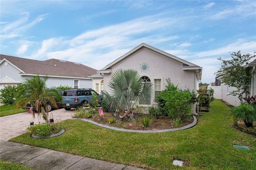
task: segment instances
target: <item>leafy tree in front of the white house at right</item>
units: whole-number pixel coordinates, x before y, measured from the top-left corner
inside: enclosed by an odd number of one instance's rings
[[[230,95],[238,95],[241,103],[243,94],[248,93],[252,78],[249,68],[244,68],[243,65],[248,63],[250,59],[253,59],[256,56],[255,53],[254,55],[249,53],[242,55],[238,51],[237,53],[231,53],[230,60],[224,60],[221,57],[218,58],[222,63],[221,68],[215,74],[221,76],[222,83],[236,88],[236,90],[230,92]]]

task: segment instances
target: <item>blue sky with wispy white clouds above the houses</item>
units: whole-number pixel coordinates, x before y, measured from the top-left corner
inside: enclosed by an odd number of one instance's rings
[[[203,67],[256,51],[256,1],[0,1],[0,53],[102,69],[141,43]]]

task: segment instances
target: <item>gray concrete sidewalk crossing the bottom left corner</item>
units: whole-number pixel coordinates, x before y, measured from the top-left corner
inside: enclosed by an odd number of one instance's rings
[[[0,143],[0,159],[39,170],[143,170],[8,141]]]

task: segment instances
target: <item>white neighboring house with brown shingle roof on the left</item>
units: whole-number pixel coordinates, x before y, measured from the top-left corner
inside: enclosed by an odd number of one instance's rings
[[[34,75],[48,75],[48,87],[69,86],[73,88],[92,88],[89,75],[97,70],[80,63],[48,59],[38,61],[0,54],[0,88],[16,85],[24,81],[25,77]]]

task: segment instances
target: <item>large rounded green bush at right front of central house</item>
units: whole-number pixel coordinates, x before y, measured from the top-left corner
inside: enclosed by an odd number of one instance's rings
[[[166,79],[166,81],[168,83],[166,89],[157,96],[160,111],[164,116],[172,119],[180,117],[184,121],[186,116],[192,112],[190,104],[196,101],[194,98],[195,93],[193,91],[190,92],[189,89],[184,91],[178,89],[178,85],[174,86],[170,79]]]

